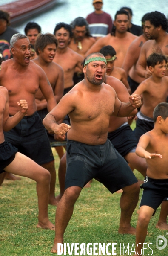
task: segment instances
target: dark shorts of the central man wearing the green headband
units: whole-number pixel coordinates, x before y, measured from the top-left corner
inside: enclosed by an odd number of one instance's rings
[[[71,186],[83,188],[95,178],[114,193],[125,186],[137,183],[125,159],[109,140],[103,145],[88,145],[68,140],[65,189]]]

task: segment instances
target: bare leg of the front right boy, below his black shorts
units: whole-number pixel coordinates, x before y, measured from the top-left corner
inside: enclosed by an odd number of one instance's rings
[[[145,242],[145,238],[148,231],[148,224],[153,213],[154,213],[154,209],[147,205],[143,205],[140,207],[140,213],[138,216],[138,222],[136,227],[137,255],[142,255],[143,243]]]

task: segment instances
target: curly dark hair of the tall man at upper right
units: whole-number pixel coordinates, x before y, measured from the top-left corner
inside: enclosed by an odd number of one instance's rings
[[[154,25],[156,28],[159,26],[162,26],[163,30],[167,30],[168,28],[168,20],[164,13],[155,11],[150,12],[147,17],[145,18],[145,21],[149,20],[152,25]]]

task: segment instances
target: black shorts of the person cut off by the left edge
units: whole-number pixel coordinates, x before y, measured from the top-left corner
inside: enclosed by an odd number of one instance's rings
[[[13,162],[17,148],[4,141],[0,144],[0,173],[5,172],[3,169]]]

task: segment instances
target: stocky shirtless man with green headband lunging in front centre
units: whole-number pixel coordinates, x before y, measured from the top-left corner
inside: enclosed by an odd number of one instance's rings
[[[107,140],[107,132],[110,116],[128,116],[141,105],[140,96],[130,96],[128,103],[120,102],[114,89],[103,83],[106,60],[101,53],[88,55],[83,72],[85,79],[67,93],[43,120],[49,131],[62,137],[68,131],[65,192],[57,206],[57,230],[52,253],[57,253],[57,243],[63,243],[74,203],[83,186],[92,178],[103,183],[111,193],[123,188],[119,233],[135,234],[130,221],[138,201],[139,183]],[[66,114],[70,116],[71,127],[57,124]]]

